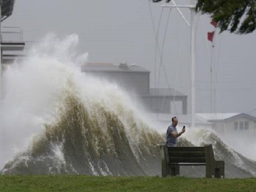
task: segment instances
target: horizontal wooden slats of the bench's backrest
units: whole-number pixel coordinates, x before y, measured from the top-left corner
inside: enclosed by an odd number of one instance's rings
[[[204,147],[166,147],[167,163],[206,163]]]

